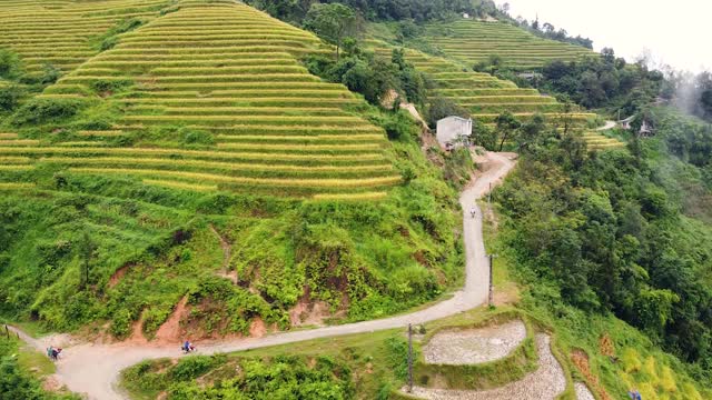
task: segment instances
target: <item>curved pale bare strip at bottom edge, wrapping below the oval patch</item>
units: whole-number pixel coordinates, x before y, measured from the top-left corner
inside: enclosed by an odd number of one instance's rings
[[[413,396],[429,400],[553,400],[566,389],[561,364],[552,354],[551,338],[536,336],[538,369],[524,379],[491,390],[446,390],[414,387]],[[405,388],[404,388],[405,390]]]

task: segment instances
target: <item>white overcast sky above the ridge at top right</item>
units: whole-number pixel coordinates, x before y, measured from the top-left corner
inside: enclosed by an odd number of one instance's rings
[[[645,49],[676,69],[712,68],[712,0],[498,0],[510,13],[551,22],[634,61]]]

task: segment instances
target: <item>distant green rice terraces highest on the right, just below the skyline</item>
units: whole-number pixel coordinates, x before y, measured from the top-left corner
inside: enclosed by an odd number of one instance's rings
[[[503,22],[459,20],[426,29],[428,41],[469,67],[501,56],[513,69],[538,69],[554,60],[574,61],[594,52],[574,44],[538,38]]]

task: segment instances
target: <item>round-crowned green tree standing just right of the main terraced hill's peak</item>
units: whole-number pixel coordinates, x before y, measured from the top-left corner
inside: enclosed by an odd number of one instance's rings
[[[336,46],[336,60],[338,61],[344,39],[356,34],[356,12],[350,7],[340,3],[315,3],[307,12],[304,27]]]

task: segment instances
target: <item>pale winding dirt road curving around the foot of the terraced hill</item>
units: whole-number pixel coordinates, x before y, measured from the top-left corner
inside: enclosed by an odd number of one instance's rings
[[[473,219],[468,212],[473,206],[476,207],[475,201],[484,196],[491,186],[498,184],[515,166],[515,162],[505,154],[487,153],[486,157],[490,161],[488,170],[477,177],[474,184],[465,189],[459,199],[465,213],[466,280],[465,287],[456,291],[452,298],[423,310],[380,320],[275,333],[259,339],[229,340],[212,344],[201,343],[200,354],[240,351],[310,339],[404,328],[408,323],[417,324],[442,319],[483,304],[487,300],[490,271],[485,258],[482,219]],[[482,216],[482,212],[477,212],[477,214]],[[17,329],[13,329],[13,331],[18,332]],[[32,339],[22,332],[18,333],[23,340],[42,352],[50,344],[42,339]],[[127,396],[117,387],[120,371],[142,360],[178,357],[180,354],[179,346],[180,343],[169,347],[151,344],[129,347],[126,343],[78,344],[65,349],[62,352],[63,358],[57,362],[55,378],[60,383],[66,384],[69,390],[86,393],[92,400],[126,399]]]

